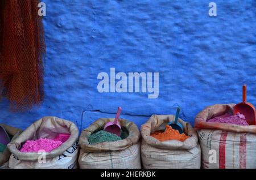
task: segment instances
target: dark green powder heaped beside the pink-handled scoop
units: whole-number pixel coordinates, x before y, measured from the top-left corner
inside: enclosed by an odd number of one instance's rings
[[[122,140],[122,139],[118,135],[112,134],[110,132],[102,131],[102,130],[90,135],[88,139],[90,144],[102,143],[102,142],[115,142],[117,140]]]

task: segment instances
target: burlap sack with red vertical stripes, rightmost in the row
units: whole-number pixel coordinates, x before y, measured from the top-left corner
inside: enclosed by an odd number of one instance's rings
[[[229,113],[235,104],[216,104],[202,110],[195,118],[201,145],[201,165],[205,169],[256,168],[256,126],[207,122]]]

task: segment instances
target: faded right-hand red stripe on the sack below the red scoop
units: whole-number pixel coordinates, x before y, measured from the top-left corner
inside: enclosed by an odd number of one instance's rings
[[[240,135],[239,161],[239,168],[246,169],[246,133]]]

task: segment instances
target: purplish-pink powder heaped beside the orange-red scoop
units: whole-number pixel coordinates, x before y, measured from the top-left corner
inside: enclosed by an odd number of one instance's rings
[[[249,124],[245,120],[245,115],[239,113],[237,113],[236,115],[226,113],[215,118],[209,119],[207,122],[220,122],[240,126],[249,126]]]

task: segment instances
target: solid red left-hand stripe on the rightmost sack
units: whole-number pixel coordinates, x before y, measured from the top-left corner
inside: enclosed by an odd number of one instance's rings
[[[225,169],[226,168],[226,137],[228,136],[228,132],[222,131],[221,132],[221,138],[220,138],[220,144],[218,146],[219,151],[219,168]]]

